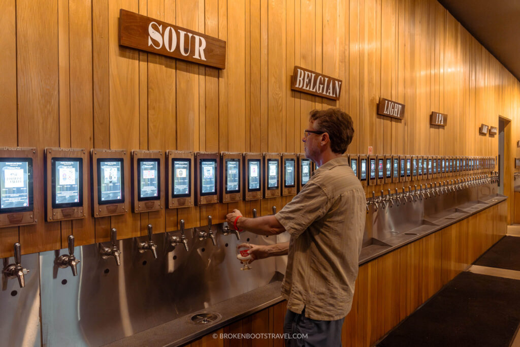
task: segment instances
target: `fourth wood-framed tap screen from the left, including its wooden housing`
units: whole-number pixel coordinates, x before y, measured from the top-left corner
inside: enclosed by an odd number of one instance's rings
[[[162,151],[132,151],[132,207],[135,213],[159,211],[164,207],[163,154]],[[149,186],[144,186],[146,184]]]

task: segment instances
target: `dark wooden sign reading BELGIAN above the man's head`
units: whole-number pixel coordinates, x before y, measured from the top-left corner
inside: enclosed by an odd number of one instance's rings
[[[315,71],[295,66],[291,89],[324,98],[339,100],[342,81]]]

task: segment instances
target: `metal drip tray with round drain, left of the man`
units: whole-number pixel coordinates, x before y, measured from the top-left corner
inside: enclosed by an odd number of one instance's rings
[[[178,346],[283,301],[280,288],[281,281],[274,281],[235,298],[206,307],[204,310],[106,344],[106,346]],[[212,316],[217,319],[205,324],[197,324],[192,319],[197,314],[201,317]]]

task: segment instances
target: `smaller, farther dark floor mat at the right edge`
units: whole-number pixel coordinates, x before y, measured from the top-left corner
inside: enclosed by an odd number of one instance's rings
[[[520,237],[503,237],[474,264],[520,271]]]

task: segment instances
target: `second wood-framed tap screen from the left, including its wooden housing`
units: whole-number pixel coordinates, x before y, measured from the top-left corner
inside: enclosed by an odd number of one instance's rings
[[[47,222],[84,218],[88,202],[88,156],[85,149],[45,148],[45,214]],[[77,176],[76,176],[77,174]],[[77,181],[77,183],[76,183]],[[76,186],[73,191],[57,191],[58,186]],[[60,194],[63,193],[63,194]],[[61,195],[63,201],[58,202]],[[59,198],[59,197],[58,197]]]

